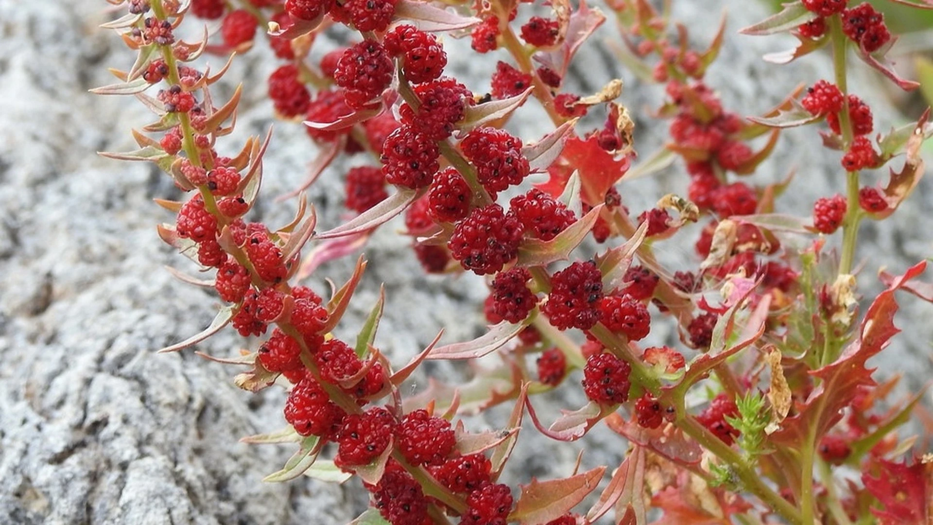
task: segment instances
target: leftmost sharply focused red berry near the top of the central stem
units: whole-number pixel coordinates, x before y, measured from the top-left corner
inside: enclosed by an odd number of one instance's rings
[[[392,59],[383,45],[375,40],[363,40],[343,52],[334,71],[334,80],[344,89],[347,106],[358,109],[367,106],[388,87],[393,71]]]

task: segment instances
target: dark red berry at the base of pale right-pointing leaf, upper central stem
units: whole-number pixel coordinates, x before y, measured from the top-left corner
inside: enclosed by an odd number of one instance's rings
[[[454,125],[463,120],[467,104],[473,103],[473,93],[453,78],[441,77],[414,88],[421,101],[415,111],[407,103],[398,113],[402,123],[424,133],[433,140],[442,140],[453,134]]]

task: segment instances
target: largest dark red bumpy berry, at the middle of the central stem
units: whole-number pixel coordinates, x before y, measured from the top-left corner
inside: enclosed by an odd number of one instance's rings
[[[447,247],[453,259],[477,275],[494,274],[518,255],[522,223],[491,204],[474,208],[456,223]]]

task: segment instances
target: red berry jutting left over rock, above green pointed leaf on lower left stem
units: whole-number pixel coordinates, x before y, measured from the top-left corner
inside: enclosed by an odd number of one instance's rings
[[[330,401],[327,392],[311,377],[301,379],[288,392],[285,420],[301,435],[333,439],[340,431],[344,416],[343,409]]]

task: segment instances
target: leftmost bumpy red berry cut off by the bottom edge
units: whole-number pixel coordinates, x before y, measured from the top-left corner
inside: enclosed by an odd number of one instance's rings
[[[421,485],[395,461],[389,461],[372,496],[379,513],[392,525],[430,523]]]

